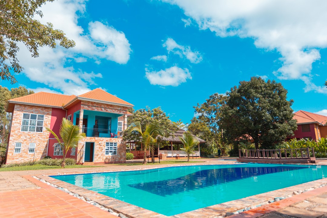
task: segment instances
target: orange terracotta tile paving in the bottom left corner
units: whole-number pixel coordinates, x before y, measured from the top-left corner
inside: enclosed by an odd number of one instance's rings
[[[29,179],[40,188],[0,193],[1,217],[117,218],[37,179]]]

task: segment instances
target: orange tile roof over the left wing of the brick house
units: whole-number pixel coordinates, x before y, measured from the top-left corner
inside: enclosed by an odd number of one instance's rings
[[[37,92],[23,97],[13,98],[10,99],[9,101],[62,107],[63,105],[67,104],[69,101],[73,100],[75,97],[76,95]]]

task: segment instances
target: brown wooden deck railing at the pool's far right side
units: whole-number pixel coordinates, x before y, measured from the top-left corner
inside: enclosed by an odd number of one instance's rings
[[[311,153],[311,154],[310,154]],[[315,157],[313,148],[294,149],[239,149],[239,158],[243,159],[309,159]]]

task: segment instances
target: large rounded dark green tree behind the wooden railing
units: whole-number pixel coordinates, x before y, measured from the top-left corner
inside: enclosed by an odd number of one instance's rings
[[[255,148],[274,147],[297,129],[287,90],[281,83],[260,77],[241,81],[228,92],[220,127],[230,142],[254,140]]]

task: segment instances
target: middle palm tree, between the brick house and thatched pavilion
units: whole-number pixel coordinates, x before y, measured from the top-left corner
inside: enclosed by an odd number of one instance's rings
[[[153,151],[154,145],[157,143],[157,136],[163,136],[163,130],[155,125],[146,125],[144,132],[142,131],[140,122],[132,123],[129,126],[129,131],[137,131],[141,135],[140,142],[143,143],[144,159],[143,164],[146,164],[146,151]]]

